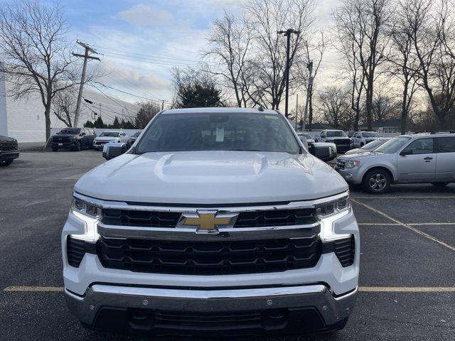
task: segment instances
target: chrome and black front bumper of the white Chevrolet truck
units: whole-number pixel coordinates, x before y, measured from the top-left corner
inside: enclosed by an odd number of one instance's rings
[[[191,333],[239,329],[292,333],[342,327],[355,304],[356,291],[336,297],[322,284],[185,290],[101,283],[88,288],[84,296],[65,289],[65,296],[71,313],[89,328],[99,330],[155,335],[176,329]],[[175,320],[175,314],[184,316],[182,313],[192,318]],[[247,318],[254,314],[256,319]],[[166,315],[173,316],[174,320],[163,318]],[[216,321],[217,316],[222,316],[222,321]]]

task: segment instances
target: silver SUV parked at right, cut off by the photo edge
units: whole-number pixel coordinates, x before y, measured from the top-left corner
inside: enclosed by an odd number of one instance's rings
[[[341,156],[336,171],[374,194],[393,183],[455,183],[455,131],[394,137],[370,153]]]

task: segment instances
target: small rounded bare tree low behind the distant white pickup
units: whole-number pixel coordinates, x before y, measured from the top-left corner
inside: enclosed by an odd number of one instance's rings
[[[333,85],[319,93],[319,105],[324,119],[336,129],[349,129],[352,122],[350,94],[343,87]]]

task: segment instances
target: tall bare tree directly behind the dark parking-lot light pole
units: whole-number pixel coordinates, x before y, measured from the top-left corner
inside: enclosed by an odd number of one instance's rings
[[[296,67],[306,67],[304,43],[314,23],[314,4],[312,0],[250,0],[245,8],[254,34],[255,100],[278,109],[286,83],[286,39],[277,31],[300,32],[291,36],[289,53],[289,87],[296,90],[302,84]]]

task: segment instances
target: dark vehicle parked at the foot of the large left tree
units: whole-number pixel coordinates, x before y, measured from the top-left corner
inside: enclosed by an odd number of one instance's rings
[[[84,148],[92,148],[96,136],[92,128],[64,128],[50,138],[50,148],[52,151],[58,149],[81,151]]]

